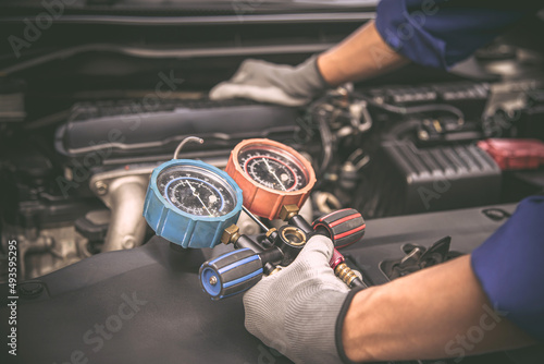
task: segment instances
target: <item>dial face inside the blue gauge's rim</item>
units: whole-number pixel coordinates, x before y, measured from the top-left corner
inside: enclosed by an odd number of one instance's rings
[[[220,217],[236,206],[236,193],[221,177],[196,166],[174,166],[157,178],[160,194],[180,210]]]

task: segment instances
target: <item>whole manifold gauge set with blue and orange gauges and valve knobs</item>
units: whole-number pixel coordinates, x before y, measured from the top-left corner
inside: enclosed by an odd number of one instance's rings
[[[295,149],[265,138],[246,139],[231,151],[222,171],[199,160],[177,159],[189,142],[203,141],[185,138],[173,159],[151,173],[144,216],[157,235],[181,247],[213,247],[221,242],[234,246],[200,268],[201,287],[213,300],[240,293],[263,275],[290,264],[316,233],[333,242],[339,236],[342,246],[362,238],[364,221],[354,209],[329,214],[313,226],[298,215],[316,183],[316,173]],[[236,222],[243,209],[265,239],[258,242],[239,233]],[[286,225],[269,229],[258,217],[281,218]],[[335,254],[333,269],[342,268],[338,277],[349,287],[360,286],[341,257]]]

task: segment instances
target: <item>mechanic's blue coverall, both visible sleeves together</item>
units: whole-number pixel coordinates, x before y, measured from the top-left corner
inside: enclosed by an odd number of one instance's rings
[[[448,69],[541,7],[528,0],[382,0],[375,26],[413,62]],[[472,252],[471,263],[494,308],[544,341],[544,196],[523,199]]]

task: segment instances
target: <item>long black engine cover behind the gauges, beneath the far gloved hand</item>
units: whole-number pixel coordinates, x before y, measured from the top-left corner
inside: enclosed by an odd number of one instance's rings
[[[149,109],[141,101],[120,100],[76,104],[69,121],[57,130],[61,155],[101,163],[157,161],[172,154],[189,135],[205,139],[206,147],[188,144],[184,151],[228,151],[242,139],[268,137],[281,142],[299,130],[298,110],[248,100],[162,100]],[[166,158],[170,159],[170,158]],[[85,160],[84,160],[85,161]]]

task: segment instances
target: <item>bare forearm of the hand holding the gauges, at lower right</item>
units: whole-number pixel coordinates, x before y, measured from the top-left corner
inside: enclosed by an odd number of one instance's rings
[[[354,361],[440,359],[533,343],[493,313],[470,256],[357,293],[343,342]]]

